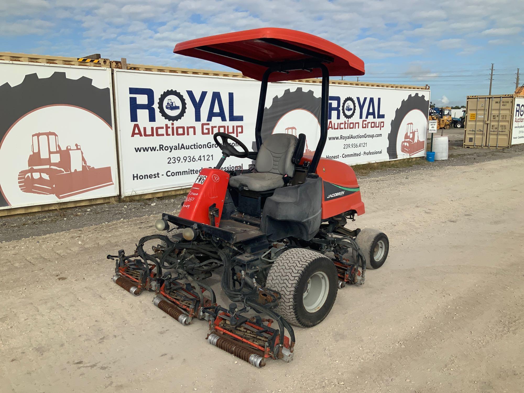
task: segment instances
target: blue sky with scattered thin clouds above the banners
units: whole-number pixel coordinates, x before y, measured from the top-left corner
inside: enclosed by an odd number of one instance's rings
[[[361,57],[363,81],[431,86],[432,101],[515,89],[524,0],[0,0],[0,52],[224,69],[176,56],[179,41],[257,27],[302,30]],[[355,78],[350,78],[355,79]],[[520,79],[524,83],[524,76]]]

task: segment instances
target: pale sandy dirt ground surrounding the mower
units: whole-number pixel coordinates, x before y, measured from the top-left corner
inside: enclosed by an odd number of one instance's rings
[[[457,164],[361,179],[386,264],[262,369],[111,281],[157,215],[2,243],[0,391],[522,391],[524,155]]]

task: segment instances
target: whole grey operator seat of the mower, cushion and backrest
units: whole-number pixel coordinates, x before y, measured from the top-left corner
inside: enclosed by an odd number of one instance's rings
[[[298,163],[304,152],[305,135],[299,138],[292,134],[271,134],[258,150],[255,161],[256,172],[232,176],[230,186],[236,189],[242,185],[250,191],[262,192],[284,186],[283,177],[294,176],[295,163]],[[298,149],[297,149],[298,145]],[[302,151],[300,151],[302,146]],[[300,157],[298,157],[300,156]]]

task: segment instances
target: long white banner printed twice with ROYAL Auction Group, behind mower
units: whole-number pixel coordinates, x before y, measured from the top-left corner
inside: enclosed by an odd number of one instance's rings
[[[115,70],[122,194],[170,190],[193,183],[221,152],[216,132],[254,148],[260,82],[144,71]],[[268,86],[262,138],[305,134],[305,155],[320,137],[316,83]],[[323,157],[350,165],[423,157],[429,91],[331,85],[329,134]],[[247,168],[248,159],[227,158],[222,169]]]

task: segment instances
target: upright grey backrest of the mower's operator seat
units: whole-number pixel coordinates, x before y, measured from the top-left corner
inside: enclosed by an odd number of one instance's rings
[[[293,153],[298,138],[292,134],[271,134],[258,150],[255,168],[257,172],[294,175]]]

